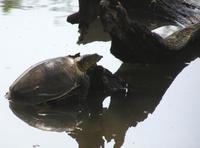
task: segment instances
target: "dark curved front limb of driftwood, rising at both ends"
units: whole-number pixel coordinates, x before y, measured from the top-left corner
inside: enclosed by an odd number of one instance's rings
[[[100,15],[105,31],[112,39],[111,53],[123,62],[190,62],[200,54],[200,24],[163,39],[144,24],[132,20],[120,3],[115,9],[103,3]]]

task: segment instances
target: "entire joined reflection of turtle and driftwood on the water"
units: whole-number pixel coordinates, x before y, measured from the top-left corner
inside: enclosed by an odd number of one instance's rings
[[[31,126],[49,131],[66,131],[76,139],[80,148],[104,147],[104,139],[114,139],[114,147],[120,148],[128,128],[137,126],[138,122],[154,112],[167,88],[185,66],[122,64],[116,75],[128,82],[128,93],[116,91],[111,95],[109,108],[105,109],[102,101],[107,95],[91,91],[88,111],[81,117],[76,109],[77,102],[52,102],[37,106],[10,104],[10,108]]]

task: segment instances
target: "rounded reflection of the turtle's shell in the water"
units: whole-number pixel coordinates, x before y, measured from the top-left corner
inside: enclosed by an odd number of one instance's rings
[[[73,131],[78,127],[77,112],[70,105],[53,108],[49,105],[26,106],[10,103],[10,109],[30,126],[47,131]]]

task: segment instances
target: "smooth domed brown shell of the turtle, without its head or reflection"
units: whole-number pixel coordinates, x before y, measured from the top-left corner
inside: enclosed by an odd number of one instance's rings
[[[82,74],[70,56],[40,62],[15,80],[8,99],[16,103],[39,104],[63,98],[79,87]]]

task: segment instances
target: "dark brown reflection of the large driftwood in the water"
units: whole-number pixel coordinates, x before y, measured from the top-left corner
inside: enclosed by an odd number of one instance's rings
[[[113,95],[110,108],[104,115],[105,137],[115,140],[119,148],[129,127],[137,126],[153,113],[162,96],[185,67],[178,65],[122,64],[117,75],[129,83],[127,96]]]

